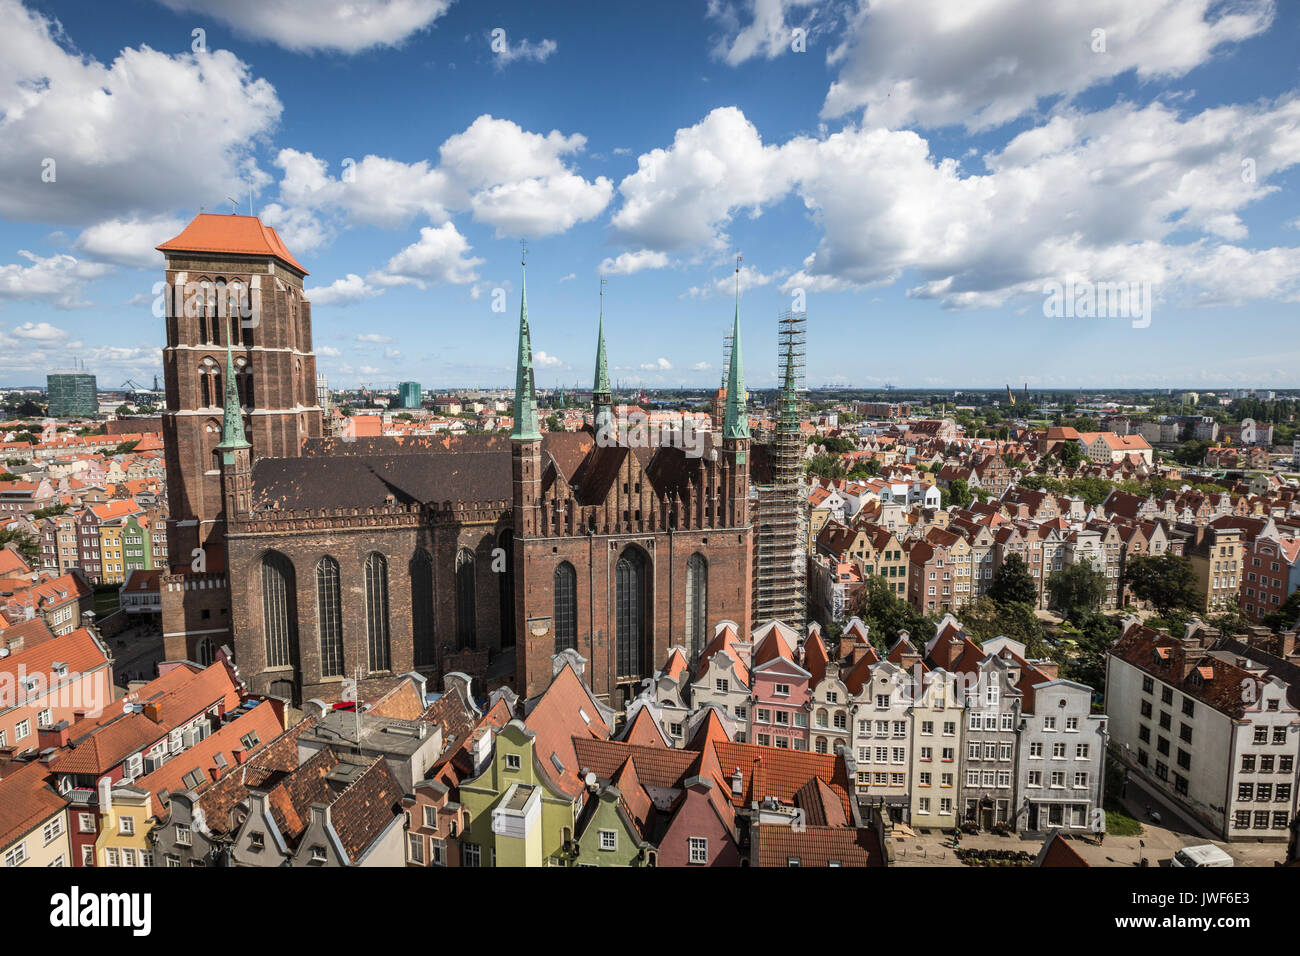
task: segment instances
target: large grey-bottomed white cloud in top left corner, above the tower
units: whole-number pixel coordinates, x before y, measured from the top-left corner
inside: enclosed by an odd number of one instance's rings
[[[229,51],[126,48],[105,65],[61,39],[0,1],[0,216],[90,225],[247,193],[251,151],[281,114],[269,82]]]

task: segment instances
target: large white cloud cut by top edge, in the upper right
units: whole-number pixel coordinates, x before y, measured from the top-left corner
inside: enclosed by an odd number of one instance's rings
[[[858,0],[827,61],[827,117],[872,126],[998,126],[1130,70],[1186,75],[1269,27],[1273,0]],[[1104,52],[1097,49],[1104,30]]]

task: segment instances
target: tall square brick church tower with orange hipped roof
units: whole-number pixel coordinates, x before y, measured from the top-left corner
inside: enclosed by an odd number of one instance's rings
[[[252,460],[298,457],[321,434],[311,303],[307,271],[256,216],[200,213],[157,248],[166,260],[155,307],[166,329],[164,653],[204,663],[230,641],[228,489],[242,485],[247,499]],[[237,421],[248,447],[229,444]]]

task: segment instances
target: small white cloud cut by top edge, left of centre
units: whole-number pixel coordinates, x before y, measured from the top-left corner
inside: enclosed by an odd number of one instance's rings
[[[183,13],[214,17],[252,40],[286,49],[356,53],[395,47],[429,27],[451,0],[159,0]]]

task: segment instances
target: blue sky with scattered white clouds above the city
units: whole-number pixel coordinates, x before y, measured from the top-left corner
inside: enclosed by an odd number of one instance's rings
[[[755,386],[800,290],[814,386],[1300,384],[1296,4],[547,7],[0,0],[0,385],[148,381],[151,247],[250,181],[337,386],[512,381],[520,238],[543,386],[602,272],[611,376],[715,384],[737,251]]]

